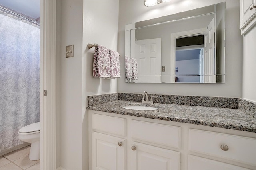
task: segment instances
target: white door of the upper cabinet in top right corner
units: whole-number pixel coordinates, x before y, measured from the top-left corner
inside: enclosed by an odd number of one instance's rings
[[[256,8],[250,10],[252,4],[256,5],[256,0],[240,0],[240,29],[256,16]]]

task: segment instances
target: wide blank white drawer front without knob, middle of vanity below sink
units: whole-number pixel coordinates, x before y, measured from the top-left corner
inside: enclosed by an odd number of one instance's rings
[[[180,148],[180,127],[132,120],[132,138]]]

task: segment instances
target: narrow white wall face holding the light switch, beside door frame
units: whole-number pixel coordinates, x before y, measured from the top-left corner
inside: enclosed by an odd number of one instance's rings
[[[57,42],[57,166],[82,169],[82,33],[83,0],[59,1]],[[58,5],[57,4],[57,5]],[[58,15],[58,14],[57,14]],[[60,32],[60,33],[59,33]],[[74,45],[74,57],[66,58],[66,46]],[[57,44],[58,45],[58,44]]]

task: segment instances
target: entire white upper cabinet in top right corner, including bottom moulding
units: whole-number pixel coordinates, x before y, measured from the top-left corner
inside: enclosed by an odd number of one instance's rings
[[[240,0],[240,29],[243,35],[256,23],[256,0]]]

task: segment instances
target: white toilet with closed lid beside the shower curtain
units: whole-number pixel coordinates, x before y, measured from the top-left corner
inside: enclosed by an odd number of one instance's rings
[[[40,122],[22,127],[19,132],[19,139],[31,143],[29,159],[40,159]]]

